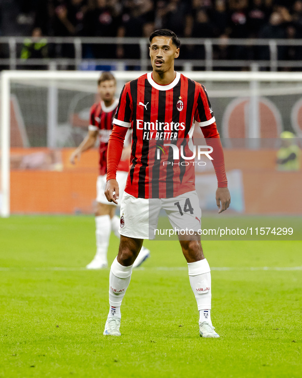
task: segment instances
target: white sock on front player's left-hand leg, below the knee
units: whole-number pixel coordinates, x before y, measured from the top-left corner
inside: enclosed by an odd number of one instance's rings
[[[123,266],[118,258],[112,262],[109,274],[109,304],[115,308],[120,307],[122,300],[129,286],[133,265]],[[119,310],[120,311],[120,310]],[[109,316],[111,308],[109,311]],[[121,313],[120,313],[121,314]],[[121,315],[120,315],[121,316]]]

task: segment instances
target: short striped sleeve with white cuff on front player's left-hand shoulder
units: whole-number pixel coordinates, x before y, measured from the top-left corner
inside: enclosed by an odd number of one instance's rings
[[[132,120],[133,103],[130,93],[130,83],[126,83],[120,96],[117,113],[115,113],[113,123],[118,126],[131,127]]]

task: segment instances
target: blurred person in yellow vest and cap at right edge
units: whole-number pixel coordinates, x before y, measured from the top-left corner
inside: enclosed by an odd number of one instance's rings
[[[280,134],[281,148],[277,152],[276,169],[298,171],[300,169],[300,149],[295,144],[295,135],[290,131]]]

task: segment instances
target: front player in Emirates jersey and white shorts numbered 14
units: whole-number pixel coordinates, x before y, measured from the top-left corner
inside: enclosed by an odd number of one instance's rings
[[[109,275],[110,308],[104,335],[121,335],[121,304],[132,266],[143,239],[152,238],[162,208],[173,228],[194,230],[190,237],[179,235],[179,242],[199,310],[199,334],[218,338],[211,321],[210,266],[198,235],[201,210],[194,166],[180,160],[173,166],[168,163],[174,159],[171,152],[174,154],[176,146],[177,150],[185,150],[192,144],[194,126],[201,127],[207,146],[213,148],[218,179],[216,203],[221,213],[230,204],[222,146],[205,88],[174,71],[180,46],[176,34],[161,29],[149,40],[152,73],[125,84],[109,139],[105,195],[109,202],[117,203],[119,184],[115,174],[127,129],[133,128],[130,170],[121,202],[120,248]],[[164,153],[162,139],[171,144],[169,153]]]

